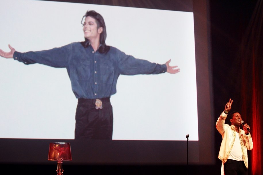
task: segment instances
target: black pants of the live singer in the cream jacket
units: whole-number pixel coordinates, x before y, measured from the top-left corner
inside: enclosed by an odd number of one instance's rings
[[[228,159],[224,163],[225,175],[247,175],[247,167],[244,161],[237,161]]]

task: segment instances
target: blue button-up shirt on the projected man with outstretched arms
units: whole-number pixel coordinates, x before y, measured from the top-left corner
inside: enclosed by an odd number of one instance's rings
[[[15,52],[14,59],[24,64],[44,64],[65,67],[76,98],[104,98],[116,93],[120,74],[159,74],[166,72],[165,64],[151,63],[126,55],[115,47],[107,53],[94,52],[91,46],[84,47],[74,42],[60,48],[36,52]]]

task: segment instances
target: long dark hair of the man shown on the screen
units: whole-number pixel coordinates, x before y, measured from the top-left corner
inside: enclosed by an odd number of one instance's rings
[[[97,13],[94,10],[88,10],[86,12],[86,14],[82,17],[81,24],[82,24],[83,18],[88,17],[88,16],[90,16],[96,20],[97,29],[99,27],[103,28],[102,33],[100,34],[100,37],[99,37],[99,43],[101,44],[101,46],[99,47],[99,52],[100,53],[108,52],[110,50],[110,46],[107,46],[105,43],[105,40],[107,37],[107,32],[106,32],[106,25],[105,25],[103,17],[101,16],[101,14]],[[84,25],[84,24],[82,24],[82,25]],[[84,47],[87,47],[89,45],[88,43],[89,43],[88,39],[85,38],[85,43],[83,43],[85,45]]]

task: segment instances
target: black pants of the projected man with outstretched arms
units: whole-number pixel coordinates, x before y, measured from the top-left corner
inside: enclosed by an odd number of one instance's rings
[[[112,139],[113,113],[110,97],[99,100],[102,108],[96,109],[96,99],[78,99],[75,139]]]

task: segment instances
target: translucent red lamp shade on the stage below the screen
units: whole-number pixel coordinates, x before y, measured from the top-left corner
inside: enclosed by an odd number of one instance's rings
[[[72,160],[70,143],[55,142],[49,144],[48,160]]]

